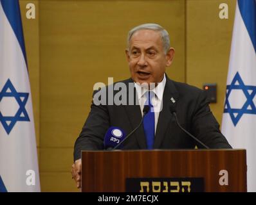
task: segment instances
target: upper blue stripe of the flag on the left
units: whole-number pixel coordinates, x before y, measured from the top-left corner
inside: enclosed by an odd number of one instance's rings
[[[21,50],[23,51],[23,56],[26,61],[26,51],[24,45],[24,37],[23,37],[23,25],[21,22],[21,11],[19,10],[19,0],[0,0],[2,4],[3,10],[7,19],[14,30],[15,36],[19,41],[19,45],[21,45]],[[26,65],[28,67],[27,61]]]

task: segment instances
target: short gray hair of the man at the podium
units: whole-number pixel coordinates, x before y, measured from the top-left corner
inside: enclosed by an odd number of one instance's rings
[[[128,37],[127,37],[127,47],[129,48],[129,43],[130,43],[131,37],[133,37],[134,33],[136,31],[145,30],[145,29],[160,32],[162,42],[163,42],[163,50],[165,51],[165,54],[167,54],[167,52],[169,51],[169,48],[170,48],[169,33],[167,32],[167,30],[165,30],[163,27],[161,27],[158,24],[142,24],[142,25],[136,26],[133,29],[131,29],[131,31],[129,31]]]

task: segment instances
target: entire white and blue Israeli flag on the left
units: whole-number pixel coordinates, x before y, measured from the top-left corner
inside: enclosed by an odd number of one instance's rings
[[[18,0],[0,0],[0,192],[40,192]]]

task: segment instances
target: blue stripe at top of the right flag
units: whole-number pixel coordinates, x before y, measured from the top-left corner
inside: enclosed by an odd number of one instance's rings
[[[237,3],[256,52],[256,0],[238,0]]]

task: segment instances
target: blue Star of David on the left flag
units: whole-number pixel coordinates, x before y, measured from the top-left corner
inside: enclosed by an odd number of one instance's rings
[[[19,104],[19,109],[17,110],[15,116],[3,116],[0,111],[0,122],[5,128],[7,134],[12,131],[12,128],[15,126],[17,121],[30,121],[25,108],[26,102],[28,101],[28,95],[28,93],[17,92],[10,79],[8,79],[3,87],[3,90],[0,92],[0,102],[4,97],[13,97],[17,104]]]

